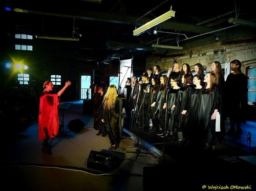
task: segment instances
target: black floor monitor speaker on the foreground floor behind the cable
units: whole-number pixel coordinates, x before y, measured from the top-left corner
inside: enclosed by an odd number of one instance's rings
[[[104,172],[111,172],[118,168],[120,159],[109,153],[102,153],[91,150],[87,160],[87,167]]]

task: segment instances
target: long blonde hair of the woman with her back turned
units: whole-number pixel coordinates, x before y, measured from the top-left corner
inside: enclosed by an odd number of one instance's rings
[[[108,90],[106,91],[106,94],[103,98],[103,102],[102,102],[103,109],[106,109],[106,110],[113,109],[116,103],[116,96],[117,96],[116,86],[112,84],[108,87]]]

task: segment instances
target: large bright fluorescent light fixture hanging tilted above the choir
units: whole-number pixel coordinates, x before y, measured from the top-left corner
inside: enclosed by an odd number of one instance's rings
[[[133,31],[133,35],[136,36],[136,35],[144,32],[144,31],[146,31],[146,30],[158,25],[159,23],[161,23],[161,22],[163,22],[163,21],[165,21],[165,20],[167,20],[171,17],[174,17],[174,16],[175,16],[175,11],[172,11],[172,7],[170,7],[170,11],[168,11],[168,12],[162,14],[161,16],[145,23],[145,25],[142,25],[138,29],[135,29]]]

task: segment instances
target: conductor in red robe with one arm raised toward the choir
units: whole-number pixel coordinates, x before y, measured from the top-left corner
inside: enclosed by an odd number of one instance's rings
[[[44,154],[52,154],[48,141],[56,137],[59,132],[59,97],[70,85],[71,82],[67,81],[65,86],[55,93],[52,92],[53,84],[51,81],[44,83],[44,91],[39,97],[38,115],[38,139],[44,141],[41,150]]]

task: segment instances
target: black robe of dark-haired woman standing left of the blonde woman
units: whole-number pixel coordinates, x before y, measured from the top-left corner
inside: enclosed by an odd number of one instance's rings
[[[100,93],[93,93],[93,128],[100,130],[101,126],[101,109],[102,109],[103,96]]]

